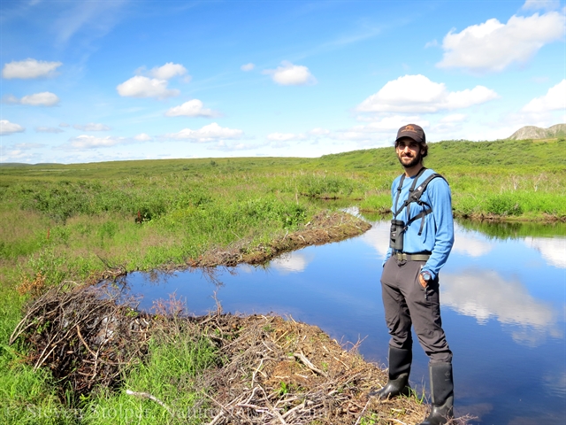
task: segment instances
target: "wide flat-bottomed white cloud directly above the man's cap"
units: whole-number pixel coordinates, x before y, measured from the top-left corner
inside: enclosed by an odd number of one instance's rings
[[[448,91],[441,82],[424,75],[404,75],[388,81],[379,91],[356,108],[358,112],[439,112],[483,104],[497,98],[492,89],[476,86],[462,91]]]

